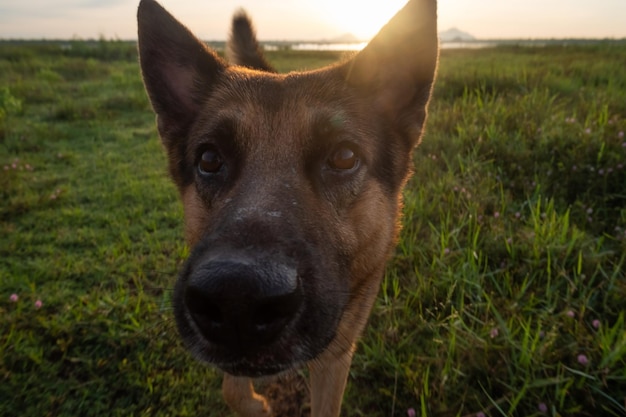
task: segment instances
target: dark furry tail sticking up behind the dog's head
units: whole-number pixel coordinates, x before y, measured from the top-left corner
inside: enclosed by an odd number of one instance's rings
[[[256,33],[252,21],[244,10],[239,10],[233,17],[233,26],[226,48],[228,60],[235,65],[276,72],[274,67],[267,62],[263,55],[263,49],[256,39]]]

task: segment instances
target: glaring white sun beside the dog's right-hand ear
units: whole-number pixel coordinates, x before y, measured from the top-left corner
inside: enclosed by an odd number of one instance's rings
[[[351,33],[360,40],[369,40],[406,2],[407,0],[324,0],[322,3],[329,23],[343,33]]]

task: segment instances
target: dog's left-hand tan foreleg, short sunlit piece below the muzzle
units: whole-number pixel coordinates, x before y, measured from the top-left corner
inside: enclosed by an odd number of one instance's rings
[[[225,374],[222,394],[228,406],[241,417],[269,417],[272,415],[265,398],[254,392],[252,380]]]

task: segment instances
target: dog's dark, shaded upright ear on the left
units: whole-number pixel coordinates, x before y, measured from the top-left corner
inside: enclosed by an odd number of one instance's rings
[[[139,60],[163,140],[185,135],[226,63],[154,0],[137,12]]]

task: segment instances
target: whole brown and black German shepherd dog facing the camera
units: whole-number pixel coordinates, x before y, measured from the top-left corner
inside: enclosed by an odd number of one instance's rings
[[[241,416],[271,415],[252,378],[302,365],[312,416],[339,415],[426,120],[436,8],[411,0],[352,58],[277,74],[245,13],[227,63],[156,1],[139,5],[142,75],[191,247],[176,323],[224,371]]]

